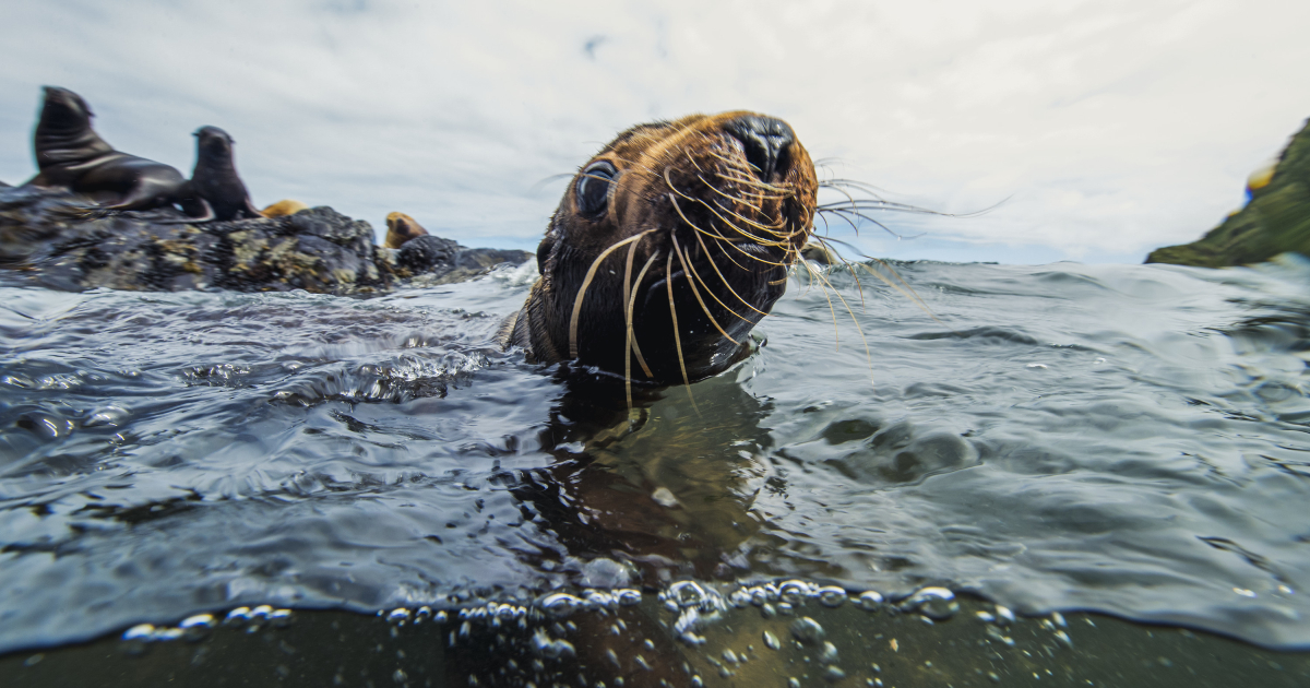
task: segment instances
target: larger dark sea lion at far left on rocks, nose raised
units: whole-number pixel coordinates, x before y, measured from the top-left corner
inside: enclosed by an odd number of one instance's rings
[[[92,130],[94,113],[81,96],[59,86],[43,89],[33,135],[39,172],[26,185],[86,194],[107,210],[149,210],[185,199],[181,172],[115,151]]]

